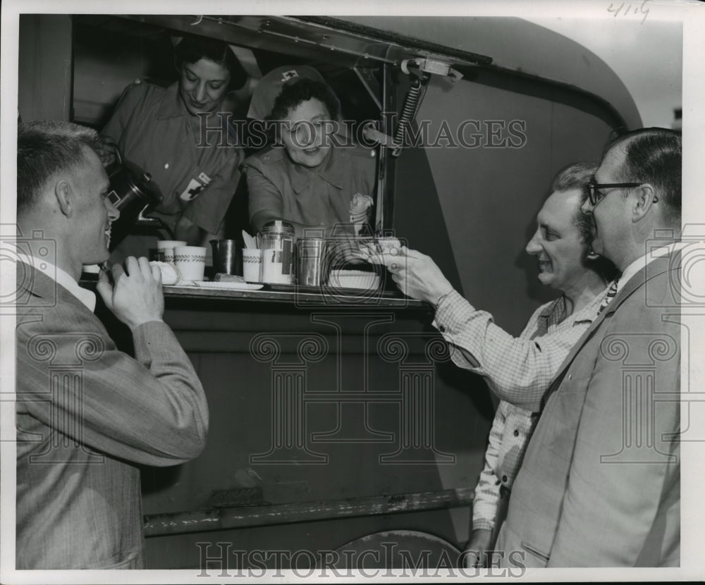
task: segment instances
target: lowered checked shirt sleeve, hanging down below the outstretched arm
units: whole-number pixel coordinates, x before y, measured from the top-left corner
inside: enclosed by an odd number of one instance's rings
[[[475,495],[472,500],[472,529],[494,529],[497,517],[497,502],[499,500],[500,479],[495,469],[498,467],[500,445],[504,433],[506,402],[500,402],[489,431],[489,441],[485,451],[485,462],[480,472]]]

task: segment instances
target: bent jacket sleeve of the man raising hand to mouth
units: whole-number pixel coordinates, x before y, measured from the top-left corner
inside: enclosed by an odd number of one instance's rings
[[[57,307],[60,318],[18,326],[18,402],[43,424],[114,457],[157,466],[196,457],[208,407],[196,373],[166,324],[133,331],[133,359],[97,318]],[[66,366],[58,372],[56,364]]]

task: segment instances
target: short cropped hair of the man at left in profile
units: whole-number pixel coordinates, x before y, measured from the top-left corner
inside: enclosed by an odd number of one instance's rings
[[[98,149],[98,133],[71,122],[36,121],[17,128],[17,213],[35,206],[47,181],[85,165],[83,149]]]

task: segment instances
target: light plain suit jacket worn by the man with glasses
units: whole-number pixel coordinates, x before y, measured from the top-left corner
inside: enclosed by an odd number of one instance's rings
[[[679,282],[680,254],[652,261],[565,359],[514,484],[505,558],[678,566]]]

